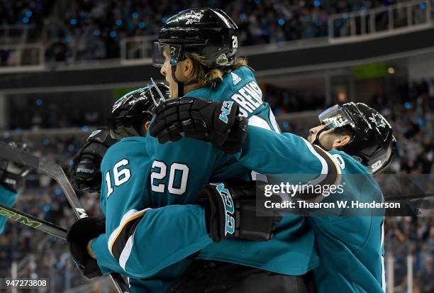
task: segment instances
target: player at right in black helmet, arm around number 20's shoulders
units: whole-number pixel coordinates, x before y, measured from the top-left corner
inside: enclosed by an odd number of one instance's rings
[[[150,134],[162,143],[179,136],[210,141],[214,130],[209,117],[182,105],[199,103],[199,99],[183,102],[168,101],[160,106]],[[231,143],[234,149],[242,147],[243,165],[269,177],[299,174],[304,176],[304,182],[340,182],[343,193],[335,197],[348,202],[381,203],[382,192],[372,175],[384,170],[394,155],[396,140],[389,123],[362,103],[333,106],[320,114],[319,120],[321,125],[311,128],[308,140],[249,126],[244,142]],[[314,197],[304,200],[333,200],[321,193],[311,195]],[[317,292],[385,292],[382,212],[320,212],[322,216],[313,212],[308,217],[320,256],[320,265],[313,270]]]

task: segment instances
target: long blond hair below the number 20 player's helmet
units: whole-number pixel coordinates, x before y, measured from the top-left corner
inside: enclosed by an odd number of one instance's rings
[[[206,59],[204,56],[196,52],[185,52],[185,56],[193,62],[194,72],[187,82],[194,82],[198,87],[216,87],[217,83],[223,80],[223,76],[241,66],[250,68],[245,58],[236,57],[235,62],[231,67],[216,67],[208,69],[206,67]]]

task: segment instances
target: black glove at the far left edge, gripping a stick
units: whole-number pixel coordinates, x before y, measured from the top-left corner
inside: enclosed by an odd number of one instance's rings
[[[25,143],[9,143],[14,148],[27,151]],[[0,159],[0,184],[11,192],[18,192],[24,184],[24,177],[28,175],[30,167],[17,164],[9,160]]]

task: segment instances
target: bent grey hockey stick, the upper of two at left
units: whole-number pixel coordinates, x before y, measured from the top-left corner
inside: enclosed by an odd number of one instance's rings
[[[17,164],[26,165],[35,170],[39,170],[40,172],[52,177],[52,179],[55,179],[57,184],[59,184],[60,189],[62,189],[62,192],[67,197],[72,209],[74,209],[74,213],[77,218],[82,219],[87,217],[86,211],[80,203],[77,194],[75,194],[74,189],[65,175],[65,172],[62,170],[62,167],[53,162],[48,162],[47,160],[36,157],[35,155],[31,155],[30,153],[25,153],[23,150],[13,148],[11,145],[3,142],[0,142],[0,157],[11,162],[16,162]],[[119,293],[130,292],[128,285],[123,280],[121,275],[112,272],[110,277]]]

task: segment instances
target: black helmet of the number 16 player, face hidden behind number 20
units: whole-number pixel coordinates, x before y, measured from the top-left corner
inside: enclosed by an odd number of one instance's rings
[[[148,86],[125,94],[113,104],[110,136],[115,139],[140,136],[143,123],[152,119],[157,106],[166,99],[169,99],[169,87],[152,79]]]

